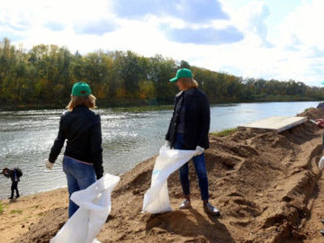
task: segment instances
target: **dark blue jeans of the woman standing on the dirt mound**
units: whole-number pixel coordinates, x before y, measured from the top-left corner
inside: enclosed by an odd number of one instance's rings
[[[175,149],[184,148],[184,135],[175,133]],[[202,200],[209,199],[208,177],[205,166],[204,153],[200,156],[193,157],[193,165],[198,176],[199,188],[201,190]],[[184,196],[190,195],[189,183],[189,166],[188,162],[179,168],[180,183],[183,188]]]

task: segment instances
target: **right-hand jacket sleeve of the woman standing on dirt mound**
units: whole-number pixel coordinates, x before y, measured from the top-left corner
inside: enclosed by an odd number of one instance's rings
[[[211,125],[210,103],[206,94],[201,95],[201,133],[198,145],[202,148],[209,147],[208,133]]]

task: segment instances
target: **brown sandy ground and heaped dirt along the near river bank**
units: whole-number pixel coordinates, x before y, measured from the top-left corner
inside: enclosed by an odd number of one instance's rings
[[[300,114],[315,119],[324,111]],[[280,134],[238,130],[225,138],[211,136],[206,152],[215,219],[202,211],[191,163],[192,205],[180,211],[177,173],[168,179],[174,211],[141,213],[155,157],[121,176],[112,193],[112,212],[98,239],[102,242],[320,242],[324,225],[324,181],[317,162],[321,134],[307,121]],[[49,242],[67,220],[67,189],[3,201],[0,242]],[[322,212],[323,211],[323,212]]]

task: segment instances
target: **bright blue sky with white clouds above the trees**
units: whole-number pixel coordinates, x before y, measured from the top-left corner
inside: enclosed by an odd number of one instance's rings
[[[0,40],[132,50],[236,76],[324,81],[322,0],[4,0]]]

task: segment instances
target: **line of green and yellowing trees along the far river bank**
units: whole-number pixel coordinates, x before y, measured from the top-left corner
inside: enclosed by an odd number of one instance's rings
[[[168,80],[180,67],[211,103],[320,100],[324,88],[294,80],[245,78],[215,72],[188,62],[132,51],[97,50],[86,55],[65,47],[36,45],[26,51],[4,38],[0,42],[0,107],[61,107],[76,81],[88,83],[97,103],[107,106],[172,103],[177,88]]]

